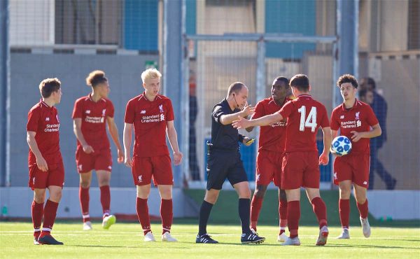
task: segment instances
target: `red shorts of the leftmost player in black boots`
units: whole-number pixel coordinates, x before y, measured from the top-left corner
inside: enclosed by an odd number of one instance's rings
[[[38,169],[37,165],[29,166],[29,182],[28,186],[34,190],[45,189],[48,186],[64,186],[64,165],[59,162],[55,165],[48,165],[48,171],[43,172]]]

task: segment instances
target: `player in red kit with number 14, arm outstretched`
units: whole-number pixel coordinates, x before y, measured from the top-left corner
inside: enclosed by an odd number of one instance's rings
[[[331,130],[327,110],[314,100],[309,91],[309,79],[298,74],[290,79],[290,86],[296,99],[283,105],[280,111],[255,120],[239,118],[234,127],[246,128],[265,126],[287,118],[286,144],[283,155],[281,188],[286,190],[287,223],[290,237],[283,245],[300,245],[297,235],[300,219],[300,187],[304,187],[319,223],[319,236],[316,245],[327,242],[327,209],[319,195],[319,167],[328,164],[331,146]],[[316,133],[318,127],[323,130],[323,152],[318,158]]]

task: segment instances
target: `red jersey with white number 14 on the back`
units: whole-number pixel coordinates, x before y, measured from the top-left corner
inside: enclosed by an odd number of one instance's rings
[[[287,118],[285,153],[318,151],[316,133],[319,127],[330,127],[327,109],[309,94],[301,94],[284,104],[278,113]]]

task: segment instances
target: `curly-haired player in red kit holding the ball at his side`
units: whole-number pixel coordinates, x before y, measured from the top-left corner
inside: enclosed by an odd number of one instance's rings
[[[337,106],[331,115],[332,137],[342,136],[351,139],[351,152],[334,161],[334,183],[339,186],[339,219],[342,234],[338,239],[349,239],[350,193],[353,183],[363,235],[370,237],[367,221],[366,190],[369,186],[370,138],[381,135],[381,126],[369,104],[358,101],[357,80],[349,74],[340,76],[337,86],[344,102]]]

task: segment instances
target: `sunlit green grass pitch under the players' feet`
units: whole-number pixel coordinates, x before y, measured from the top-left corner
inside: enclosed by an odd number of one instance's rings
[[[335,239],[330,227],[326,246],[315,246],[316,226],[300,227],[301,246],[280,246],[276,226],[258,227],[264,244],[240,244],[237,225],[209,225],[207,230],[221,244],[195,244],[197,220],[175,220],[172,235],[177,243],[160,241],[161,226],[153,224],[156,242],[145,243],[139,223],[116,223],[102,230],[81,230],[81,223],[55,223],[52,235],[64,246],[34,246],[31,223],[0,222],[0,258],[420,258],[420,228],[372,227],[365,239],[360,225],[351,228],[351,239]]]

